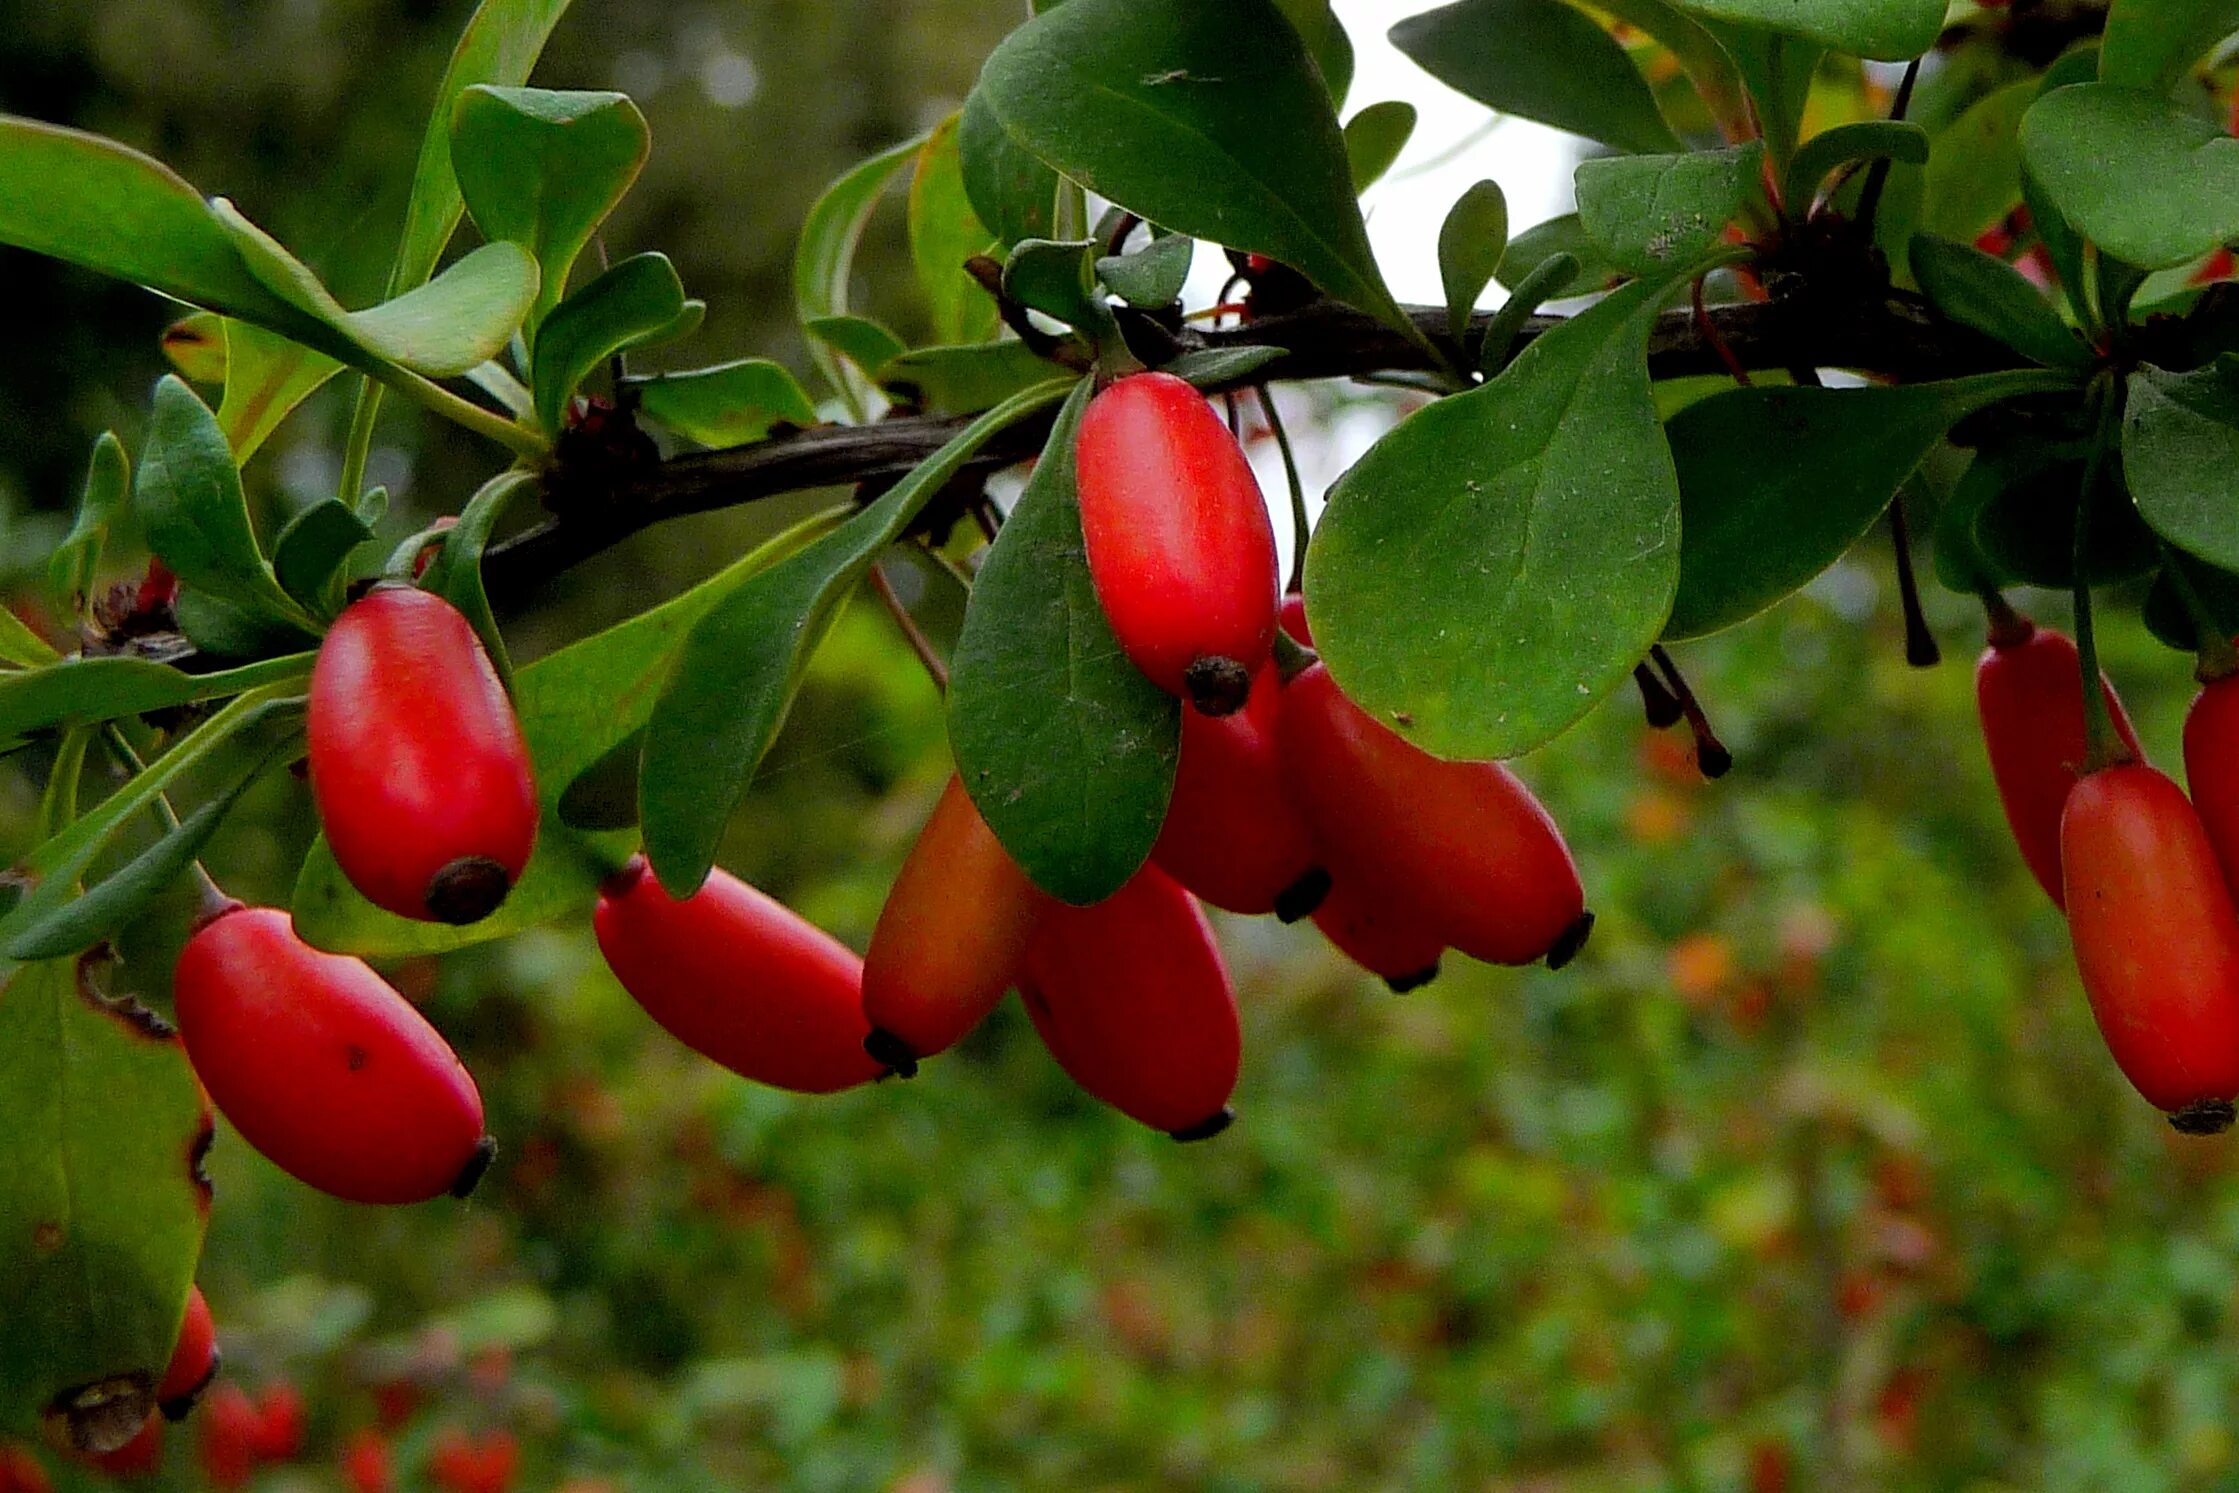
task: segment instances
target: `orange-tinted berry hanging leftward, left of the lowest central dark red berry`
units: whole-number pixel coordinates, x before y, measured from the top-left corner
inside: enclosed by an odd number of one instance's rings
[[[963,1041],[1012,987],[1046,900],[952,777],[862,958],[869,1052],[907,1077]]]

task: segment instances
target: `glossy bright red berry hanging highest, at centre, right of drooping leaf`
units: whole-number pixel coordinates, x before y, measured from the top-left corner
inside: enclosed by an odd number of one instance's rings
[[[1075,450],[1088,575],[1120,647],[1207,714],[1245,703],[1274,647],[1267,501],[1214,407],[1173,374],[1097,394]]]

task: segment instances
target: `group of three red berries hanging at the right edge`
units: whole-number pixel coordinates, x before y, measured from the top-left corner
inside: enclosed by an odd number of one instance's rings
[[[2116,1065],[2179,1130],[2210,1135],[2239,1099],[2239,676],[2205,683],[2185,716],[2190,799],[2100,689],[2123,750],[2082,772],[2076,645],[1993,609],[1975,701],[2006,824],[2069,915]]]

